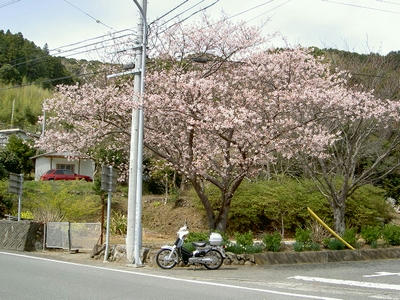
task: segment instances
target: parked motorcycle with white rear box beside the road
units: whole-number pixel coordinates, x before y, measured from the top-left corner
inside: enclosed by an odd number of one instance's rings
[[[172,269],[180,261],[185,265],[203,265],[209,270],[218,269],[226,258],[222,248],[222,236],[212,232],[208,242],[192,242],[196,250],[189,251],[183,247],[185,237],[189,234],[185,224],[176,233],[178,238],[173,246],[165,245],[157,252],[156,262],[162,269]]]

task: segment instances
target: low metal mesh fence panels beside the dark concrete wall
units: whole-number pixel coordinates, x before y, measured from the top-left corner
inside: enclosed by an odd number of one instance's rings
[[[101,234],[100,223],[48,222],[46,247],[92,250]]]

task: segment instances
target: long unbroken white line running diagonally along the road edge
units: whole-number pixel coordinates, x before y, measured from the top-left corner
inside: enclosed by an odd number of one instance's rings
[[[282,295],[282,296],[299,297],[299,298],[303,298],[303,299],[341,300],[339,298],[329,298],[329,297],[323,297],[323,296],[313,296],[313,295],[306,295],[306,294],[280,292],[280,291],[274,291],[274,290],[250,288],[250,287],[239,286],[239,285],[231,285],[231,284],[224,284],[224,283],[183,279],[183,278],[176,278],[176,277],[169,277],[169,276],[162,276],[162,275],[155,275],[155,274],[146,274],[146,273],[133,272],[133,271],[127,271],[127,270],[119,270],[119,269],[110,269],[110,268],[104,268],[104,267],[98,267],[98,266],[78,264],[78,263],[73,263],[73,262],[53,260],[53,259],[48,259],[48,258],[43,258],[43,257],[29,256],[29,255],[24,255],[24,254],[8,253],[8,252],[1,252],[1,251],[0,251],[0,254],[10,255],[10,256],[17,256],[17,257],[24,257],[24,258],[29,258],[29,259],[42,260],[42,261],[48,261],[48,262],[54,262],[54,263],[66,264],[66,265],[72,265],[72,266],[78,266],[78,267],[86,267],[86,268],[91,268],[91,269],[98,269],[98,270],[105,270],[105,271],[112,271],[112,272],[119,272],[119,273],[126,273],[126,274],[138,275],[138,276],[146,276],[146,277],[159,278],[159,279],[182,281],[182,282],[188,282],[188,283],[199,284],[199,285],[225,287],[225,288],[232,288],[232,289],[260,292],[260,293],[266,293],[266,294],[275,294],[275,295]]]

